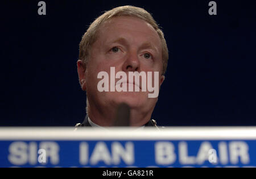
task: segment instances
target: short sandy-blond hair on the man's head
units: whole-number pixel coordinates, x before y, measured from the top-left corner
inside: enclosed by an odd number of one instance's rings
[[[82,40],[80,42],[80,47],[79,47],[79,59],[82,60],[84,64],[87,64],[90,48],[92,47],[93,43],[97,39],[98,30],[101,24],[113,17],[118,17],[118,16],[133,16],[136,18],[140,18],[146,21],[147,23],[151,24],[151,26],[155,29],[155,31],[158,33],[160,40],[162,42],[162,59],[163,59],[162,74],[164,74],[166,72],[167,62],[168,62],[168,48],[167,48],[166,40],[164,39],[164,34],[162,30],[160,30],[158,24],[156,24],[154,18],[152,18],[152,15],[140,7],[134,7],[134,6],[116,7],[112,10],[106,11],[104,14],[102,14],[96,20],[94,20],[94,22],[90,24],[88,30],[82,36]]]

